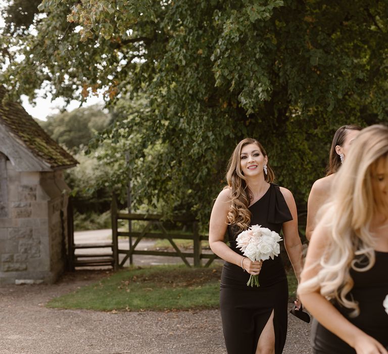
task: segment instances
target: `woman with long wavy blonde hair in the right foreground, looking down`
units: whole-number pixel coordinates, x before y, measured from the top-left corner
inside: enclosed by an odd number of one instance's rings
[[[388,127],[363,129],[333,180],[298,294],[315,354],[388,354]]]

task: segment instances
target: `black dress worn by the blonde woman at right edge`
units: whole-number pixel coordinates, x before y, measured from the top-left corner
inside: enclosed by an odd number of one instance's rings
[[[351,323],[388,347],[388,314],[383,306],[384,298],[388,295],[388,252],[375,251],[375,255],[376,262],[369,271],[350,270],[354,281],[351,296],[359,303],[360,315],[351,318],[349,309],[335,302],[333,305]],[[312,326],[311,344],[315,354],[356,354],[355,349],[316,320]]]

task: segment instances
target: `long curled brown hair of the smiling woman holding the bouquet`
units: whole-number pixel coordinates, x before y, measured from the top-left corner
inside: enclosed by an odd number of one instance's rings
[[[246,138],[241,140],[235,147],[232,156],[228,163],[228,171],[226,173],[226,181],[228,183],[225,188],[230,188],[230,209],[228,213],[228,224],[236,225],[238,230],[248,229],[251,222],[251,212],[248,206],[252,200],[252,192],[247,185],[247,179],[241,171],[241,149],[249,144],[255,144],[259,147],[263,156],[267,156],[263,146],[255,139]],[[266,182],[271,183],[275,180],[275,173],[267,163],[267,175],[264,173]]]

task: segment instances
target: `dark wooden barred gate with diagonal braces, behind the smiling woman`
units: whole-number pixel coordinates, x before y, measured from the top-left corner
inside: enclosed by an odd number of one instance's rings
[[[207,259],[208,261],[205,264],[205,267],[213,262],[217,256],[213,253],[203,253],[202,252],[202,241],[208,240],[208,236],[200,235],[198,230],[197,220],[193,220],[187,217],[175,216],[170,221],[173,223],[181,223],[182,225],[191,226],[191,233],[172,233],[163,226],[163,216],[156,214],[134,214],[134,213],[121,213],[117,210],[116,198],[112,199],[112,239],[113,239],[113,257],[114,257],[114,268],[118,269],[123,267],[124,263],[129,259],[129,263],[132,264],[132,255],[157,255],[157,256],[173,256],[180,257],[182,261],[191,267],[191,264],[188,262],[187,258],[193,258],[194,267],[202,267],[202,259]],[[128,223],[132,220],[142,220],[147,222],[146,226],[141,231],[133,232],[123,232],[118,230],[119,220],[128,220]],[[130,228],[128,228],[131,230]],[[129,249],[120,249],[119,248],[119,237],[127,237]],[[136,249],[139,242],[144,239],[166,239],[170,242],[171,246],[175,250],[172,251],[163,251],[163,250],[139,250]],[[179,247],[174,242],[174,239],[185,239],[193,241],[193,251],[185,252],[179,249]],[[124,254],[124,258],[119,260],[119,255]]]

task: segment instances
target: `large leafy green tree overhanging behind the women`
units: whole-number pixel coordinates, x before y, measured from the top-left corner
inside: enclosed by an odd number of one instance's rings
[[[138,203],[205,220],[233,146],[251,136],[303,205],[333,131],[386,120],[386,2],[43,0],[39,10],[31,35],[7,36],[24,56],[4,82],[31,98],[41,86],[68,99],[103,90],[122,117],[102,135],[107,162],[130,166]]]

